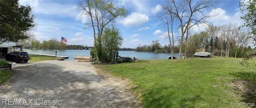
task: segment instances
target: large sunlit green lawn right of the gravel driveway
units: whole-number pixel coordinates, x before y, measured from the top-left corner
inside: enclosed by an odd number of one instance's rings
[[[142,60],[95,66],[132,80],[135,87],[131,91],[141,99],[144,107],[231,107],[231,102],[246,100],[233,82],[252,77],[239,64],[241,60]]]

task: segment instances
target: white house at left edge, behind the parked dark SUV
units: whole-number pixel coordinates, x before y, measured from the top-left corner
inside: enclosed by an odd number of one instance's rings
[[[10,53],[11,51],[15,51],[15,49],[19,48],[20,51],[22,51],[22,42],[4,42],[0,44],[0,59],[5,58],[5,55],[7,53]]]

